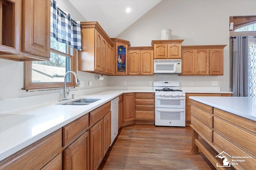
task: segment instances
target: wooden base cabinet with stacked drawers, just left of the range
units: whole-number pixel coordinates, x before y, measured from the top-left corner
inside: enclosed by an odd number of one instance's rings
[[[154,93],[135,94],[135,120],[155,120]]]

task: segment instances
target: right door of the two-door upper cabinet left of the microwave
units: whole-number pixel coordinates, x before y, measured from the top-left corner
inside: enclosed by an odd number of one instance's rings
[[[140,51],[140,74],[142,75],[153,75],[153,50],[142,50]]]

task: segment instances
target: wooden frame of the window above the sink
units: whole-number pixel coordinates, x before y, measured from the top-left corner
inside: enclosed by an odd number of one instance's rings
[[[68,46],[68,54],[62,53],[55,49],[50,49],[52,52],[70,57],[70,71],[76,72],[76,59],[77,50],[72,49]],[[73,50],[73,55],[70,55],[70,50]],[[70,74],[70,82],[66,82],[67,87],[75,87],[76,80],[73,74]],[[22,90],[33,90],[33,89],[47,89],[47,88],[61,88],[64,86],[64,82],[32,82],[32,61],[24,61],[24,87]]]

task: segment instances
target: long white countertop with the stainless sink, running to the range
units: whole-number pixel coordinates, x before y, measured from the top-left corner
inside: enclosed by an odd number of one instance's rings
[[[106,92],[78,96],[74,99],[78,100],[82,97],[102,98],[89,105],[56,105],[60,103],[56,101],[1,113],[0,160],[102,106],[120,94],[129,92],[154,92],[154,90],[108,90]],[[68,100],[68,102],[70,101],[72,100]]]

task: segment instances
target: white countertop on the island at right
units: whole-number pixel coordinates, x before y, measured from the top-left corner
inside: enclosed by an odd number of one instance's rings
[[[256,98],[248,97],[202,97],[190,96],[203,104],[207,104],[235,115],[256,121]]]

